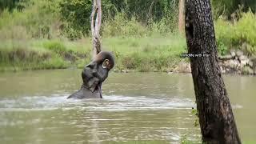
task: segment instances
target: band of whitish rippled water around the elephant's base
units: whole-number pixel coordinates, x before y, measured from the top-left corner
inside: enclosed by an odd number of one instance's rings
[[[69,94],[31,96],[0,100],[0,111],[28,110],[158,110],[190,109],[194,102],[189,98],[150,98],[146,96],[105,95],[103,99],[66,99]]]

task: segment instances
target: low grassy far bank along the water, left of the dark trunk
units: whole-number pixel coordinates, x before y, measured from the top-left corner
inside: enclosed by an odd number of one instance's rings
[[[181,61],[185,38],[103,38],[103,49],[114,52],[116,70],[166,71]],[[91,40],[9,40],[0,45],[0,70],[82,68],[91,59]]]

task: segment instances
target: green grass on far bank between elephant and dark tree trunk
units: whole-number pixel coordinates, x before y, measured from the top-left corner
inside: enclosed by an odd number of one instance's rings
[[[185,38],[104,38],[106,50],[114,51],[117,70],[168,71],[186,52]]]

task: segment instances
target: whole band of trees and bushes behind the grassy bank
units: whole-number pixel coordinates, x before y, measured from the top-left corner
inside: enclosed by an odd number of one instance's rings
[[[102,0],[103,37],[152,37],[178,31],[178,0]],[[92,0],[0,0],[0,40],[90,36]],[[218,49],[256,53],[256,1],[212,0]]]

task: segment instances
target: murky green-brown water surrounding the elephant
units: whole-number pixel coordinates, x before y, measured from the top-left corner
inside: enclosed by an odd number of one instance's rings
[[[2,144],[151,142],[200,138],[190,74],[114,74],[103,99],[70,100],[81,70],[0,74]],[[242,141],[256,142],[256,77],[226,76]]]

